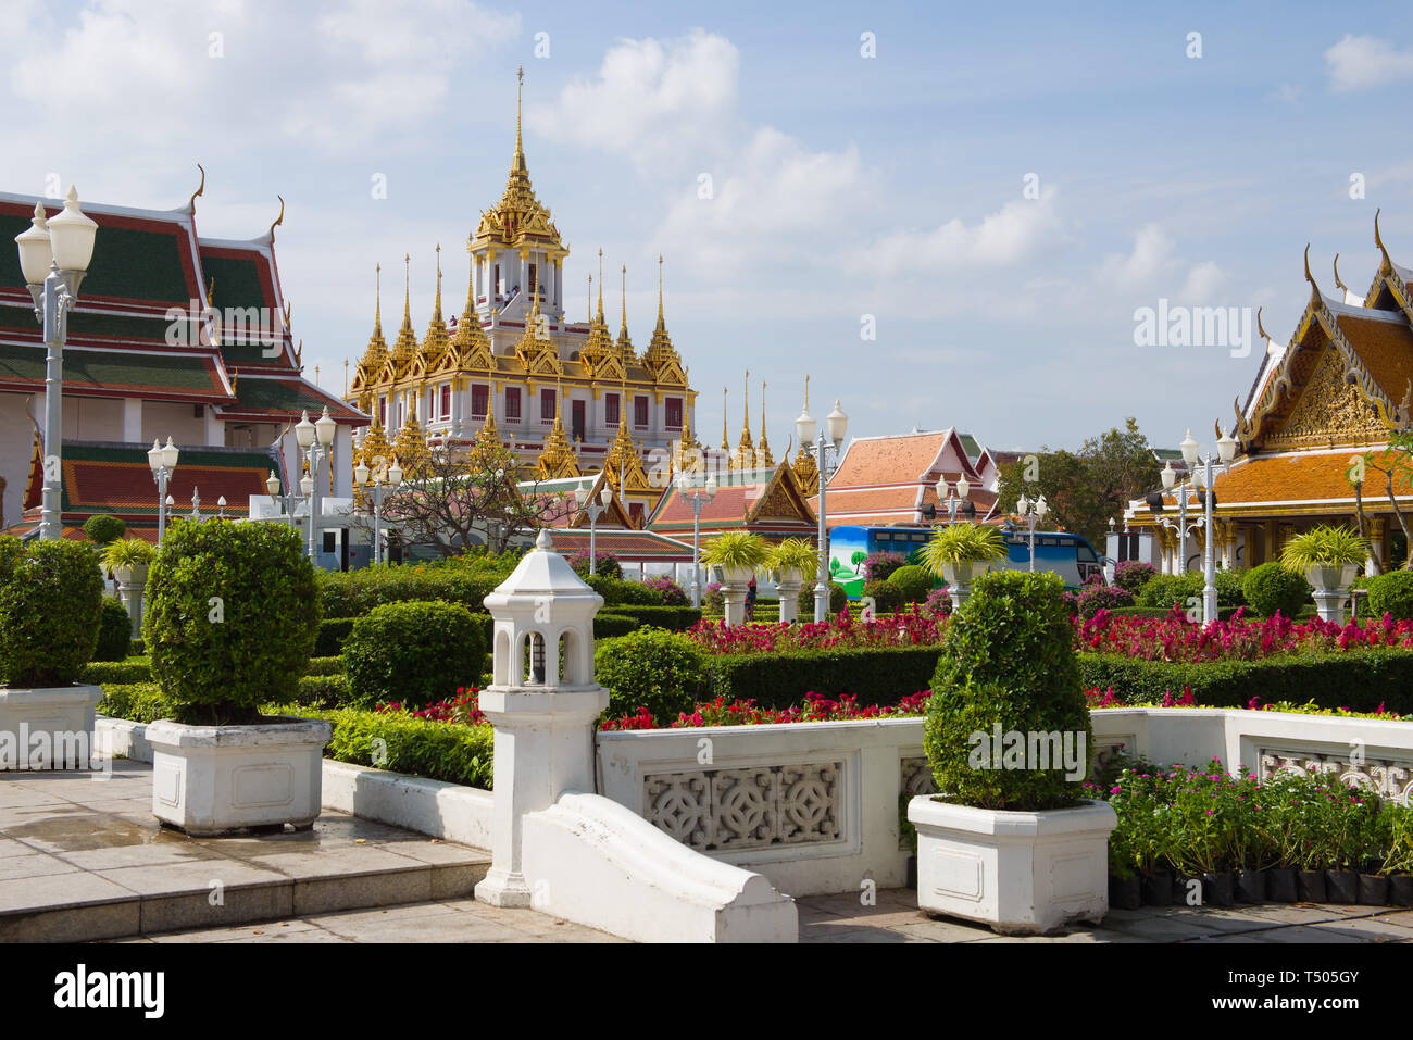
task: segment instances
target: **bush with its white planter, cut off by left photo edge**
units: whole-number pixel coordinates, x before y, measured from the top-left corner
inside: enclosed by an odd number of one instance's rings
[[[0,537],[0,770],[90,764],[103,691],[75,680],[102,610],[92,545]]]

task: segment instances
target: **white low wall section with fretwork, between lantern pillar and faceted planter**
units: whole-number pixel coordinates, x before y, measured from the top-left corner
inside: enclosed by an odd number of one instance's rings
[[[791,896],[907,882],[899,798],[934,790],[923,719],[598,733],[605,797]]]

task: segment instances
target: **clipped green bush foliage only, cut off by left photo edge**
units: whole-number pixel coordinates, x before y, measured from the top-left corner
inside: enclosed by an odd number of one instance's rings
[[[93,547],[0,536],[0,680],[65,687],[97,646],[103,575]]]

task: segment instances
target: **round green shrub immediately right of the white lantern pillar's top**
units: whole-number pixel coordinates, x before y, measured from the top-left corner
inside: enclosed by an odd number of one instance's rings
[[[609,718],[647,708],[664,726],[695,707],[704,661],[692,640],[663,629],[605,639],[593,650],[593,670],[609,691]]]

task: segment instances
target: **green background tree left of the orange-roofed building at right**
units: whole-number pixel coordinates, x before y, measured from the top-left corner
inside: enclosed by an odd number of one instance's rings
[[[1027,475],[1037,479],[1026,480]],[[1000,468],[999,507],[1015,512],[1022,495],[1046,496],[1047,527],[1082,534],[1099,544],[1111,517],[1123,516],[1129,502],[1159,483],[1159,465],[1137,420],[1126,418],[1088,438],[1072,452],[1041,448],[1034,463],[1020,458]]]

